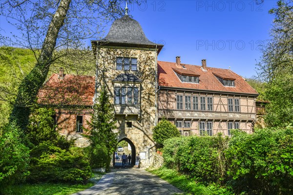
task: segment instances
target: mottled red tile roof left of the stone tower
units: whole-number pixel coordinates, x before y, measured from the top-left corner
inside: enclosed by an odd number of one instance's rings
[[[38,103],[49,105],[93,105],[95,77],[53,74],[40,89]]]

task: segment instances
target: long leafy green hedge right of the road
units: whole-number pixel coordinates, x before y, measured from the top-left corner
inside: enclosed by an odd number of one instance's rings
[[[293,128],[232,131],[232,137],[175,137],[164,163],[196,181],[232,187],[236,194],[292,194]]]

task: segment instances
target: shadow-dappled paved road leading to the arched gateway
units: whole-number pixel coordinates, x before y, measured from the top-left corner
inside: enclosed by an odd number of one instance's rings
[[[167,181],[144,169],[113,169],[93,187],[74,195],[175,195],[183,194]]]

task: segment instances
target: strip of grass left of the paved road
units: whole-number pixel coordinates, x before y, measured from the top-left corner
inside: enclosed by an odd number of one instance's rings
[[[11,186],[3,190],[4,195],[71,195],[93,186],[93,183],[87,184],[23,184]]]

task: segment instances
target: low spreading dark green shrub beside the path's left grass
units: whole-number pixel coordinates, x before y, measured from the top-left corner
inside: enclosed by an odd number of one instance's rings
[[[85,183],[91,177],[83,156],[75,156],[59,147],[42,143],[30,152],[28,182]]]

